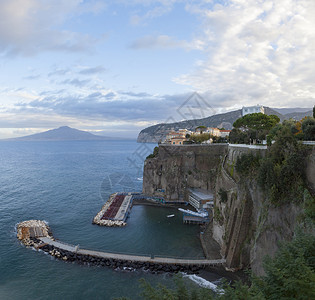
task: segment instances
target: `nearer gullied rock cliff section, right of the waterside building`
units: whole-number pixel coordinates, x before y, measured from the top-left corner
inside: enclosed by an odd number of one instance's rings
[[[255,274],[262,275],[262,258],[273,256],[280,241],[292,238],[302,208],[293,203],[270,205],[255,180],[240,178],[234,170],[236,160],[250,151],[265,155],[265,150],[229,147],[222,162],[215,188],[213,237],[228,268],[251,267]],[[227,195],[224,201],[222,191]]]

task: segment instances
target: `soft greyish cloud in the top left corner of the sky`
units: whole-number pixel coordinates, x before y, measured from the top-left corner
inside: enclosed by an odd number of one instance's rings
[[[95,38],[61,29],[74,15],[94,12],[93,5],[81,3],[81,0],[55,0],[49,4],[44,0],[2,0],[0,55],[31,56],[41,51],[88,49],[97,42]],[[82,11],[82,5],[85,5],[85,11]]]

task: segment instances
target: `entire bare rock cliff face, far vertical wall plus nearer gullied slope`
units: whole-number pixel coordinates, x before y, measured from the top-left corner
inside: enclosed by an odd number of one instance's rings
[[[303,209],[293,203],[271,205],[254,179],[244,180],[237,174],[237,158],[248,152],[262,157],[266,154],[263,149],[227,145],[160,146],[158,156],[145,162],[143,192],[163,194],[172,201],[187,199],[189,187],[214,191],[209,229],[227,260],[227,268],[251,267],[261,275],[263,257],[273,256],[280,241],[292,238]],[[315,150],[308,158],[306,172],[313,196],[314,170]]]

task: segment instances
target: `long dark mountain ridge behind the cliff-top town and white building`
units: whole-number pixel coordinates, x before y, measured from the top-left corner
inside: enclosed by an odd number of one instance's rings
[[[312,111],[301,112],[300,108],[296,108],[295,112],[293,109],[285,109],[283,110],[284,113],[282,114],[280,111],[282,109],[274,109],[270,107],[264,107],[265,114],[267,115],[277,115],[281,122],[283,120],[287,120],[293,118],[295,120],[301,120],[304,116],[311,116]],[[307,110],[307,109],[306,109]],[[218,127],[225,129],[232,129],[233,123],[242,116],[242,111],[235,110],[231,112],[227,112],[224,114],[213,115],[203,119],[196,119],[196,120],[187,120],[182,122],[176,123],[161,123],[157,125],[150,126],[141,130],[138,135],[137,142],[138,143],[158,143],[160,140],[165,139],[166,134],[170,130],[178,130],[180,128],[187,128],[188,130],[195,130],[198,126],[207,126],[207,127]]]

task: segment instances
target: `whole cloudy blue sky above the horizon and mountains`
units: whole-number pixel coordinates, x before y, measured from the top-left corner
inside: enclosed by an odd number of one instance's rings
[[[314,16],[313,0],[0,0],[0,138],[311,108]]]

